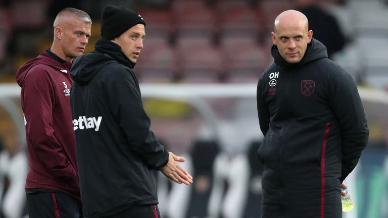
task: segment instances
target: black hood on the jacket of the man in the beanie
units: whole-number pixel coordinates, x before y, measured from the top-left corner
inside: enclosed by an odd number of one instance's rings
[[[104,65],[117,62],[133,69],[131,62],[122,52],[121,47],[109,40],[99,39],[94,45],[95,50],[79,56],[73,63],[70,74],[73,80],[80,84],[88,83]]]

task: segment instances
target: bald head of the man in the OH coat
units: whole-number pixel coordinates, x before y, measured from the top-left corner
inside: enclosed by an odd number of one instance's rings
[[[303,59],[313,31],[309,30],[309,21],[303,13],[288,10],[276,17],[271,36],[280,56],[289,64],[296,64]]]

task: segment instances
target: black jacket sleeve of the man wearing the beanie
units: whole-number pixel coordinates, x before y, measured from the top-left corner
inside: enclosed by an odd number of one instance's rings
[[[168,162],[168,151],[150,130],[151,120],[144,111],[140,91],[125,68],[118,68],[107,79],[109,106],[126,135],[130,148],[152,168]]]

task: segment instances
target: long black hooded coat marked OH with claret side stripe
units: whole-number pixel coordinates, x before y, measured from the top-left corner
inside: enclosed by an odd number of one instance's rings
[[[315,39],[297,64],[272,55],[257,87],[262,217],[342,217],[340,185],[369,135],[357,86]]]

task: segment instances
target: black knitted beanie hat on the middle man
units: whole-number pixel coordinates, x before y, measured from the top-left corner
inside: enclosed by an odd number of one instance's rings
[[[124,7],[106,6],[101,19],[101,37],[112,40],[136,24],[146,26],[138,13]]]

